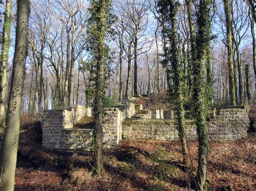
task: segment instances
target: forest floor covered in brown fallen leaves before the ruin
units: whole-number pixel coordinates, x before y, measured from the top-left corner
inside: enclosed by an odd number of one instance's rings
[[[170,190],[190,189],[196,174],[196,142],[189,142],[191,160],[182,163],[179,142],[122,140],[104,152],[104,176],[93,178],[88,151],[41,148],[38,122],[24,122],[16,168],[16,190]],[[210,142],[209,188],[256,189],[256,136],[234,142]]]

